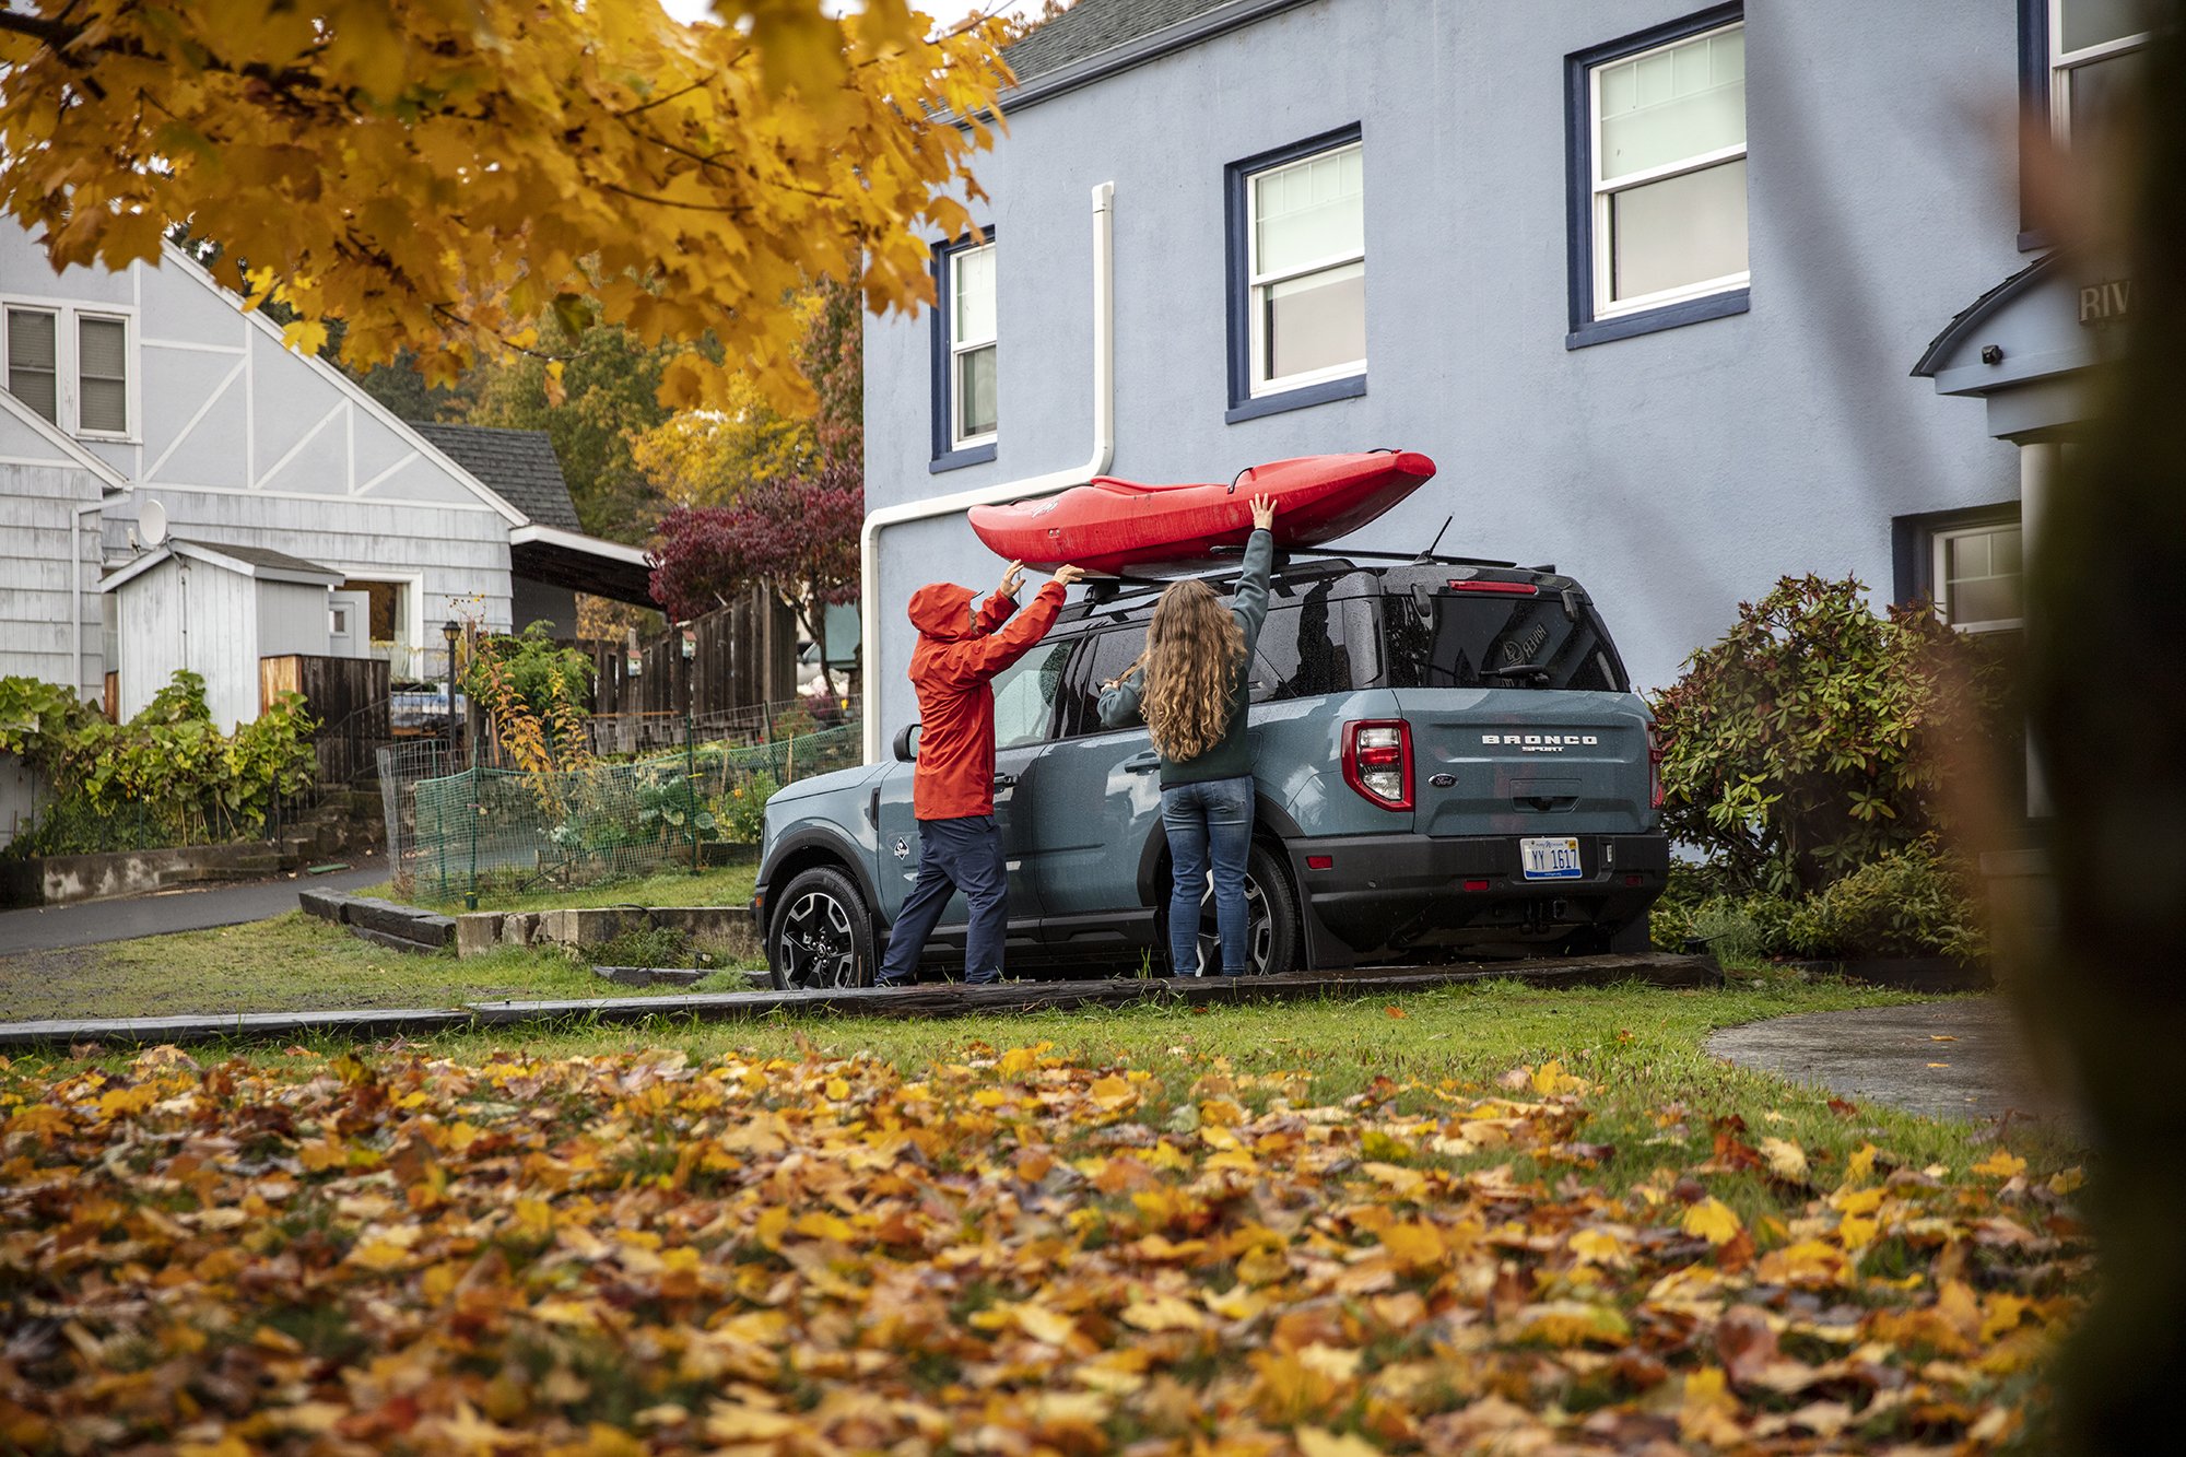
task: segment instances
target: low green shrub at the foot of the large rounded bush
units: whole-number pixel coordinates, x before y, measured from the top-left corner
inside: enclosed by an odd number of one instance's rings
[[[1974,869],[1924,838],[1795,906],[1786,943],[1797,956],[1985,960],[1989,939],[1978,893]]]

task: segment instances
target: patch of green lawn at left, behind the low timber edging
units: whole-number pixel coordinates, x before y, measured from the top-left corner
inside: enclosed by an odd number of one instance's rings
[[[741,976],[728,974],[702,982],[706,991],[741,987]],[[420,956],[297,910],[247,925],[0,956],[0,1019],[9,1022],[599,995],[643,993],[610,987],[560,949]]]

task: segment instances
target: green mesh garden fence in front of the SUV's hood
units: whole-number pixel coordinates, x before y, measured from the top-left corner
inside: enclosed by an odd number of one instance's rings
[[[404,779],[407,764],[383,761],[387,853],[398,888],[428,901],[695,871],[759,840],[778,785],[850,768],[859,755],[859,728],[846,724],[549,774],[468,768]],[[431,757],[422,766],[437,768]]]

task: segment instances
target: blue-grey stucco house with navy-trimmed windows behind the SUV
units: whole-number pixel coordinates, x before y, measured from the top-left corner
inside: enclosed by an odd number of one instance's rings
[[[916,711],[907,593],[999,569],[962,510],[1091,473],[1425,451],[1351,545],[1452,516],[1443,551],[1556,562],[1640,685],[1782,573],[2020,626],[2103,319],[2009,118],[2099,127],[2131,15],[1078,0],[1010,50],[986,241],[866,328],[868,746]]]

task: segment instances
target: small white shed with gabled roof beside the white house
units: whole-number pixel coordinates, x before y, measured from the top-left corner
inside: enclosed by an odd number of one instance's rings
[[[136,715],[175,669],[205,678],[223,731],[258,718],[258,658],[326,656],[328,591],[341,571],[265,547],[171,538],[107,573],[114,593],[120,718]]]

